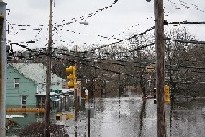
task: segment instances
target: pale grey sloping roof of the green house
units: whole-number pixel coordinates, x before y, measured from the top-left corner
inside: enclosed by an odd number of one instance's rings
[[[36,83],[46,83],[46,67],[42,63],[9,63],[8,65]],[[51,74],[51,83],[61,82],[62,78]]]

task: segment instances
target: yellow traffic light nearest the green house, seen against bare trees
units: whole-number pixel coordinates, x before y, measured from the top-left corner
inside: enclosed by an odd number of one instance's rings
[[[68,79],[68,88],[76,88],[77,85],[77,76],[76,76],[76,67],[69,66],[66,68],[67,79]]]

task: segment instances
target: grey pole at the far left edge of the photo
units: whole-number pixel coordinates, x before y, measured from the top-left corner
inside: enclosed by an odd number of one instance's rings
[[[0,0],[0,137],[6,136],[6,3]]]

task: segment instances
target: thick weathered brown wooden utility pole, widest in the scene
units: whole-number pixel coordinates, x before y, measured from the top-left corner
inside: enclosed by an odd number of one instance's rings
[[[157,89],[157,137],[166,137],[164,109],[164,9],[163,0],[154,1],[155,13],[155,47],[157,53],[156,89]]]

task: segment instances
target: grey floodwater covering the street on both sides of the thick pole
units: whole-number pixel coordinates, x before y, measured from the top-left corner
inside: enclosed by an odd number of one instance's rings
[[[168,137],[204,137],[204,99],[188,99],[166,105]],[[157,106],[153,99],[141,97],[95,99],[91,112],[91,137],[156,137]],[[75,136],[75,122],[65,122],[67,134]],[[88,134],[86,109],[79,112],[77,136]]]

